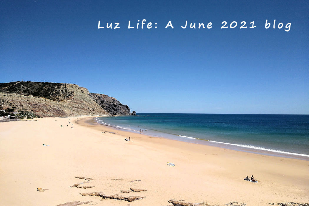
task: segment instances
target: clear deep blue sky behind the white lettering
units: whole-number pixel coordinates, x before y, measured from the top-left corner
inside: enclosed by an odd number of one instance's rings
[[[0,82],[74,83],[137,112],[309,114],[308,11],[307,0],[1,0]],[[153,27],[128,29],[142,19]]]

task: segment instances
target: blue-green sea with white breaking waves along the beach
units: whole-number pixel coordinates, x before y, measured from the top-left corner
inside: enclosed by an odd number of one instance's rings
[[[138,113],[97,120],[99,124],[149,136],[277,156],[309,157],[309,115]]]

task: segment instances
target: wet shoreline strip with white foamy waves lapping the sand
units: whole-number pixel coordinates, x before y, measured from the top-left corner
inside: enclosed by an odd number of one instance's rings
[[[97,117],[95,117],[95,118],[97,118]],[[95,118],[92,118],[93,122],[91,124],[93,124],[93,123],[99,124],[99,123],[97,123],[98,120],[96,120]],[[87,122],[89,123],[90,121],[87,121]],[[139,133],[138,131],[135,131],[135,130],[130,131],[127,128],[118,128],[118,127],[115,127],[114,125],[106,125],[106,124],[99,124],[99,125],[101,125],[103,127],[110,127],[110,128],[115,129],[115,130],[130,132],[132,134],[138,134]],[[147,135],[143,132],[142,132],[142,134],[145,135],[145,136],[152,136],[154,138],[160,138],[160,137],[157,137],[157,136],[153,136],[151,134]],[[127,136],[130,136],[130,135],[128,134]],[[208,145],[208,146],[213,146],[213,147],[218,147],[218,148],[223,148],[223,149],[231,149],[231,150],[241,151],[241,152],[255,153],[255,154],[260,154],[260,155],[269,155],[269,156],[275,156],[275,157],[292,158],[292,159],[300,159],[300,160],[309,161],[309,156],[306,155],[306,154],[290,153],[290,152],[284,152],[284,151],[280,151],[280,150],[270,151],[270,150],[273,150],[273,149],[265,149],[265,148],[258,149],[257,147],[255,148],[255,146],[243,147],[243,146],[237,145],[237,144],[203,140],[203,139],[199,139],[199,138],[194,138],[194,140],[192,140],[192,139],[188,139],[188,140],[172,139],[172,138],[168,138],[168,137],[163,137],[163,138],[169,139],[169,140],[193,143],[193,144]]]

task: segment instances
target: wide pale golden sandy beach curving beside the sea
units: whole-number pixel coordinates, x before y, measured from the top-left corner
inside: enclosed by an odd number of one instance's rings
[[[171,205],[170,199],[210,205],[309,203],[306,160],[149,137],[96,124],[93,117],[4,122],[0,134],[2,205]],[[128,137],[131,141],[124,141]],[[251,175],[258,183],[243,180]],[[94,187],[70,187],[83,182]],[[121,192],[130,188],[147,191]],[[146,197],[128,202],[80,194],[98,191]]]

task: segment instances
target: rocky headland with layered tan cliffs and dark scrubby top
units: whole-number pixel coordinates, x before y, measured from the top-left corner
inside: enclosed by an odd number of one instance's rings
[[[41,117],[130,115],[130,109],[108,95],[93,94],[76,84],[49,82],[0,83],[1,107],[33,111]]]

